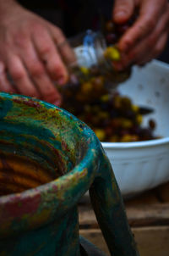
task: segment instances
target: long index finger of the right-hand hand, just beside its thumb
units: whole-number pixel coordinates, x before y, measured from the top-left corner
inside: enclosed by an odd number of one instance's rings
[[[121,51],[127,52],[154,30],[161,13],[167,7],[166,3],[166,0],[161,0],[160,3],[159,0],[140,1],[139,18],[120,40]]]

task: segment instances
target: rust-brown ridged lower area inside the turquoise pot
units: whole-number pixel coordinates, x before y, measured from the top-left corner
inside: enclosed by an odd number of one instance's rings
[[[60,174],[42,168],[26,157],[0,155],[0,196],[41,186],[56,179]]]

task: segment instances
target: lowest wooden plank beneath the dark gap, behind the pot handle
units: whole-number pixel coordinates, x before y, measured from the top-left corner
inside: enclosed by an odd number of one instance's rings
[[[140,256],[169,255],[169,226],[132,228]],[[110,255],[101,230],[80,230],[80,235],[90,240],[107,255]]]

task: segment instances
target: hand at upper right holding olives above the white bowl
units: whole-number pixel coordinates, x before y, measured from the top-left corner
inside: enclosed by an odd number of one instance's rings
[[[124,33],[118,47],[122,59],[115,65],[123,70],[131,64],[145,64],[157,57],[166,45],[169,32],[169,3],[167,0],[115,0],[112,19],[123,24],[139,9],[138,19]]]

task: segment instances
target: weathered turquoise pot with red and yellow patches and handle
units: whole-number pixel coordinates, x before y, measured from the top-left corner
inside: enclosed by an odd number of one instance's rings
[[[0,255],[94,255],[79,246],[77,203],[88,189],[111,255],[138,255],[94,132],[52,104],[0,93]]]

